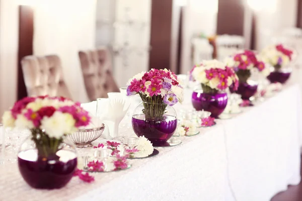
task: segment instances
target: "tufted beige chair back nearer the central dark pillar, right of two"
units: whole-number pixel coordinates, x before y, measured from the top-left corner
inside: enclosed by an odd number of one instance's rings
[[[113,78],[111,56],[107,48],[80,51],[79,57],[90,100],[108,97],[108,92],[119,91]]]

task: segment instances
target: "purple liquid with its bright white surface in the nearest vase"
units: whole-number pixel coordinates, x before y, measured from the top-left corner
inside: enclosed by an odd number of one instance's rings
[[[37,150],[18,154],[18,166],[24,180],[34,188],[53,189],[65,186],[77,167],[77,155],[71,151],[57,152],[60,160],[39,158]]]

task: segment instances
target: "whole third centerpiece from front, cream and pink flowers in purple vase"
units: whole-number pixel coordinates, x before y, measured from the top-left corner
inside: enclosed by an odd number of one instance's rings
[[[211,117],[218,118],[228,103],[224,92],[231,85],[238,87],[238,77],[233,68],[217,60],[203,61],[190,71],[193,79],[201,84],[201,91],[194,91],[192,104],[197,111],[208,111]]]

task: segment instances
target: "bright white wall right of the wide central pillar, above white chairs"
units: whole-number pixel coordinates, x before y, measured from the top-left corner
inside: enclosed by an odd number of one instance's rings
[[[181,73],[187,74],[192,68],[191,39],[194,34],[216,33],[218,0],[188,0],[184,7],[182,29]]]

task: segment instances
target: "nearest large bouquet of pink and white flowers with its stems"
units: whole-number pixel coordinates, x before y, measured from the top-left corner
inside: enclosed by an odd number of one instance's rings
[[[41,157],[56,156],[63,137],[90,121],[80,103],[64,97],[25,97],[3,115],[4,126],[31,131]]]

